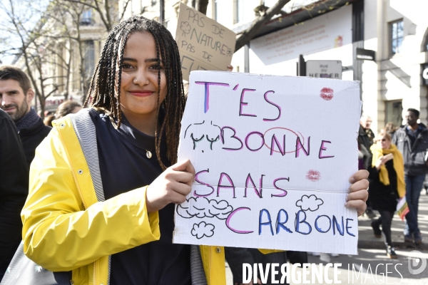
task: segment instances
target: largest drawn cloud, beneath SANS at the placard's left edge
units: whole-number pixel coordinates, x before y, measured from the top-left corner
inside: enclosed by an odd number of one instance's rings
[[[177,214],[185,219],[193,217],[227,219],[232,211],[233,207],[227,201],[217,202],[215,199],[210,200],[205,197],[190,197],[177,207]]]

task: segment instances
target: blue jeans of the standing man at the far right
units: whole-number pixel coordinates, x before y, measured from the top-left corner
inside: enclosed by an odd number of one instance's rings
[[[417,224],[417,210],[419,207],[419,196],[421,195],[425,175],[404,175],[404,180],[406,182],[406,200],[410,211],[406,215],[406,226],[404,227],[404,234],[409,235],[420,232]]]

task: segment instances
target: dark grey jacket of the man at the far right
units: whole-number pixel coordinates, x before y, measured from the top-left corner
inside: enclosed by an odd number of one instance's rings
[[[397,145],[398,150],[403,155],[404,172],[409,176],[426,175],[428,171],[426,164],[428,129],[423,124],[419,125],[422,127],[422,132],[417,136],[414,145],[407,135],[407,125],[399,128],[392,138],[392,143]]]

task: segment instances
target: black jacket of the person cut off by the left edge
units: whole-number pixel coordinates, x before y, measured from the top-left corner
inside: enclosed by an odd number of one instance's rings
[[[29,169],[15,123],[0,110],[0,280],[21,242]]]

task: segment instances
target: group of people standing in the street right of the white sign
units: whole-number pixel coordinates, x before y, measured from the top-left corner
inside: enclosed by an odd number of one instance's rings
[[[406,125],[387,123],[378,135],[370,129],[372,119],[362,116],[358,135],[360,169],[370,172],[369,199],[365,215],[372,220],[374,236],[382,237],[387,256],[397,258],[391,237],[391,224],[400,199],[407,202],[404,242],[421,244],[417,214],[419,195],[428,171],[428,129],[419,120],[419,110],[409,108]],[[374,214],[377,210],[380,217]],[[377,219],[376,219],[377,218]],[[382,227],[382,230],[380,229]]]

